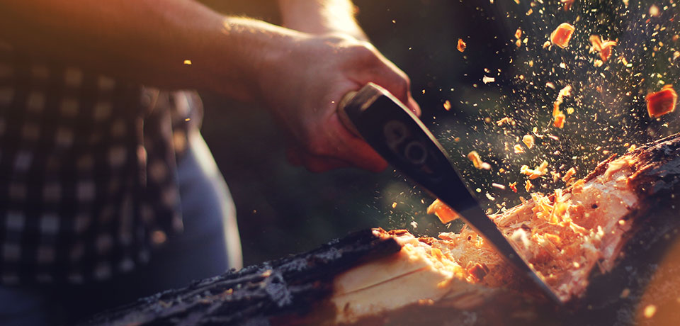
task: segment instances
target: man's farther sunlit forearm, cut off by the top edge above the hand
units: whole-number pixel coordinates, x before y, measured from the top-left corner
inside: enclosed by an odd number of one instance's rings
[[[367,40],[350,0],[278,0],[283,26],[306,33],[345,33]]]

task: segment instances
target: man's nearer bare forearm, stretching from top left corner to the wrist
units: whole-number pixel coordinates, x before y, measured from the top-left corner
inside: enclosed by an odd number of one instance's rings
[[[30,0],[0,5],[0,39],[55,57],[170,88],[257,96],[264,55],[300,33],[225,18],[191,0]],[[183,64],[191,60],[191,65]]]

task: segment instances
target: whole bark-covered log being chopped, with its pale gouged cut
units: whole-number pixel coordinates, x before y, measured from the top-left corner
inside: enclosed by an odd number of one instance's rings
[[[83,325],[674,325],[680,134],[490,218],[563,305],[469,229],[365,230],[143,298]]]

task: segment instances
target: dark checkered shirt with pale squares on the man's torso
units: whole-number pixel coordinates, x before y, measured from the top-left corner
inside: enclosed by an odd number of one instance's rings
[[[192,103],[0,43],[0,283],[107,279],[181,231]]]

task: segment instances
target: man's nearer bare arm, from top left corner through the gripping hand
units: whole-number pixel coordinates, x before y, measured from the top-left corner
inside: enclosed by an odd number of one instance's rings
[[[0,38],[143,84],[264,103],[292,136],[290,158],[312,171],[387,165],[340,123],[348,91],[373,81],[419,110],[406,74],[369,43],[229,18],[192,0],[9,1]]]

